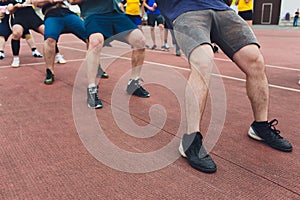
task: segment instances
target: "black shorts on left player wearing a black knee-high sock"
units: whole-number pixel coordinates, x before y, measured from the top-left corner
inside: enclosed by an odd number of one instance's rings
[[[43,24],[43,20],[38,15],[31,15],[26,17],[16,17],[13,20],[13,24],[19,24],[24,30],[32,29],[38,32],[38,28]]]

